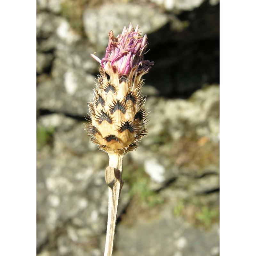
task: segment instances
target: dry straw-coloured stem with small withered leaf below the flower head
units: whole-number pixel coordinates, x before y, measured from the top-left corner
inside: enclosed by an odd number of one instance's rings
[[[104,256],[112,255],[119,196],[124,184],[122,180],[124,155],[109,153],[108,156],[109,166],[105,172],[105,179],[108,184],[108,225]]]

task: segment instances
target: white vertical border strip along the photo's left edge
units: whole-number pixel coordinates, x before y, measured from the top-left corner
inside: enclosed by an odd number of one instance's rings
[[[0,26],[0,255],[35,255],[36,1],[3,1]]]

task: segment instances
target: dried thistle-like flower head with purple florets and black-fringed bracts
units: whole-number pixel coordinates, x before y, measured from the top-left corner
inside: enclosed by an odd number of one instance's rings
[[[105,57],[100,60],[91,54],[101,67],[94,99],[89,103],[89,132],[91,140],[108,153],[137,148],[147,132],[141,77],[154,62],[144,60],[147,35],[142,37],[138,30],[138,25],[134,29],[130,24],[117,37],[110,31]]]

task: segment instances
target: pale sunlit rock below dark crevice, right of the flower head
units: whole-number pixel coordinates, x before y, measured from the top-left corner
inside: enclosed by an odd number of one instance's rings
[[[188,130],[194,130],[198,136],[207,136],[211,140],[219,140],[218,109],[212,109],[219,104],[219,86],[210,86],[198,90],[190,100],[170,100],[164,98],[149,98],[147,100],[150,122],[148,130],[151,138],[143,138],[142,144],[151,144],[153,136],[167,130],[174,140],[180,139]],[[212,110],[211,110],[212,109]],[[212,113],[212,111],[215,111]],[[212,113],[212,114],[210,114]],[[210,124],[209,116],[214,121]],[[164,125],[163,125],[164,124]],[[209,126],[212,125],[212,128]]]

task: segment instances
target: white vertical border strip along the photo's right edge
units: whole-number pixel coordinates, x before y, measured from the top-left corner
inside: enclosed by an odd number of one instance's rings
[[[220,255],[255,255],[255,2],[220,3]]]

